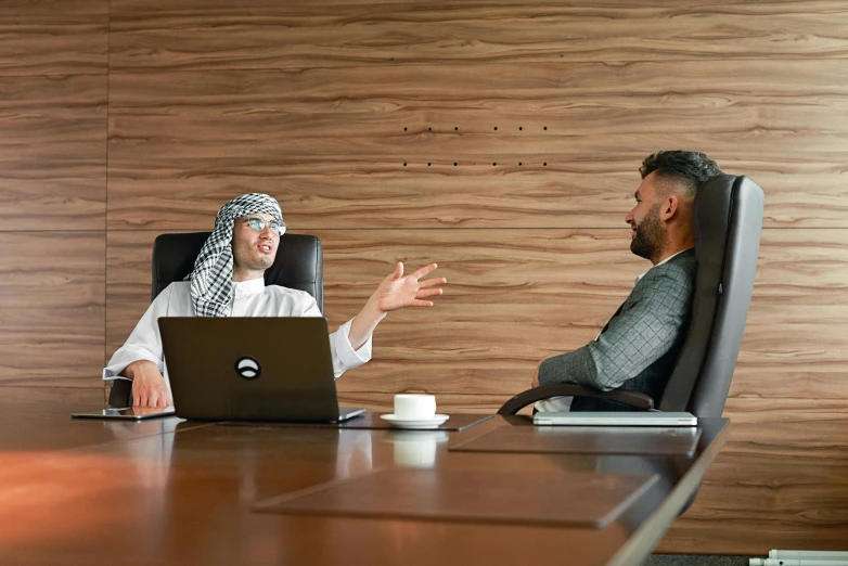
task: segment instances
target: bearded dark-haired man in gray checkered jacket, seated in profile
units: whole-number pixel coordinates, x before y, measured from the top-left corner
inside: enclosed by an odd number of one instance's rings
[[[698,188],[720,175],[698,152],[650,155],[640,168],[635,206],[625,217],[630,250],[651,261],[635,286],[598,337],[574,351],[553,356],[537,368],[532,386],[575,383],[608,391],[663,395],[685,340],[695,287],[693,205]],[[627,411],[628,407],[579,397],[539,401],[539,411]]]

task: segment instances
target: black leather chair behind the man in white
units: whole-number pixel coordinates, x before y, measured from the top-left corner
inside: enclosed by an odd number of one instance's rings
[[[162,234],[153,243],[153,284],[151,301],[175,281],[182,281],[194,269],[210,232]],[[324,310],[324,260],[321,241],[313,235],[284,234],[280,239],[273,265],[265,272],[266,285],[282,285],[306,291]],[[130,403],[132,382],[115,380],[110,391],[110,407]]]

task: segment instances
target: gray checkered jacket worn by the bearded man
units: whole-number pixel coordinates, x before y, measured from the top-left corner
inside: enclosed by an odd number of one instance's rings
[[[658,404],[685,342],[696,270],[694,249],[650,269],[595,340],[542,362],[539,384],[627,389],[650,395]],[[571,403],[571,411],[627,410],[588,397]]]

